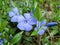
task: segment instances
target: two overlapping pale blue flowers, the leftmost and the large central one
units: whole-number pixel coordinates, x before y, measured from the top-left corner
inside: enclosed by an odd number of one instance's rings
[[[13,8],[12,12],[9,12],[11,22],[18,22],[17,27],[20,30],[30,31],[33,26],[37,23],[37,19],[33,17],[31,13],[24,13],[24,16],[19,14],[18,8]]]

